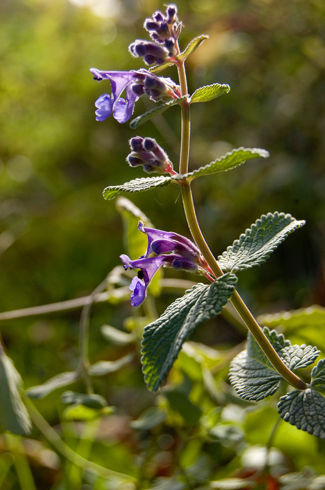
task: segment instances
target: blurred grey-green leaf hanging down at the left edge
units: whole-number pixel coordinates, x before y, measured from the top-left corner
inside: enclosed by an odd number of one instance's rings
[[[13,434],[30,434],[32,424],[20,391],[22,378],[0,346],[0,425]]]

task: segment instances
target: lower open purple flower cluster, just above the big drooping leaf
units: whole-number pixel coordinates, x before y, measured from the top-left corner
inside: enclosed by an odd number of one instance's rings
[[[148,237],[146,253],[136,260],[131,260],[125,254],[120,255],[125,270],[139,269],[130,284],[132,306],[139,306],[145,299],[147,287],[161,266],[203,274],[213,280],[206,269],[204,258],[188,238],[177,233],[148,228],[142,221],[139,221],[139,230]],[[152,253],[155,255],[151,256]]]

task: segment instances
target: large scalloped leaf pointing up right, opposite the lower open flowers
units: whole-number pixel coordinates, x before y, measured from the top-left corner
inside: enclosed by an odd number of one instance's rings
[[[304,223],[278,211],[262,215],[218,257],[221,269],[235,272],[259,266],[290,233]]]

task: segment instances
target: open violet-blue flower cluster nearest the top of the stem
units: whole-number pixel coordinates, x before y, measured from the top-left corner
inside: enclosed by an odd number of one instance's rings
[[[119,123],[126,123],[133,114],[134,104],[146,94],[152,100],[178,98],[179,86],[170,78],[157,76],[148,70],[130,70],[130,72],[107,72],[90,68],[97,81],[109,80],[112,93],[101,95],[95,102],[96,121],[105,121],[112,113]],[[125,99],[121,97],[125,91]]]

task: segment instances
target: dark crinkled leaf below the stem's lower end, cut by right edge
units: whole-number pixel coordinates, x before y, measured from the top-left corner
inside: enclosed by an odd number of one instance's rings
[[[325,397],[311,389],[286,393],[278,403],[280,417],[297,429],[325,439]]]

